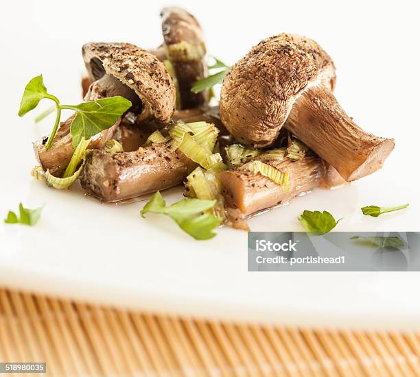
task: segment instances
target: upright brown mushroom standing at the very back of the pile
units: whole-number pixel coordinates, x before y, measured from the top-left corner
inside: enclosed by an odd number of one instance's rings
[[[181,108],[196,108],[207,104],[208,90],[191,93],[194,82],[207,75],[206,47],[200,24],[182,8],[164,8],[161,18],[167,57],[174,66],[178,80]]]

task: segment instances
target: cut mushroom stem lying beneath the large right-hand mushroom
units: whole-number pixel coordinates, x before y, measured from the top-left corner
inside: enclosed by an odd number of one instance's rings
[[[259,160],[259,158],[255,158]],[[285,157],[281,161],[264,163],[288,172],[290,185],[288,189],[272,182],[269,178],[246,171],[246,165],[240,169],[224,171],[219,179],[224,190],[226,208],[235,221],[246,219],[261,210],[287,203],[294,197],[319,186],[327,172],[325,163],[318,156],[308,155],[301,160],[292,161]]]

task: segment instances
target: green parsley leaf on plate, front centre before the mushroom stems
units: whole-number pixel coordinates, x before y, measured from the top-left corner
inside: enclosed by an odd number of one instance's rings
[[[194,239],[205,240],[215,236],[211,230],[220,223],[218,217],[202,214],[205,210],[213,208],[214,205],[215,200],[183,199],[166,206],[161,193],[156,191],[152,199],[145,204],[140,215],[144,217],[146,213],[152,212],[170,216],[182,230]]]

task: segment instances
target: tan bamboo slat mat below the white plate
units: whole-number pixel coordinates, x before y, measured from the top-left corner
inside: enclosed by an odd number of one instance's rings
[[[420,376],[420,334],[244,326],[0,289],[0,361],[45,361],[50,376]]]

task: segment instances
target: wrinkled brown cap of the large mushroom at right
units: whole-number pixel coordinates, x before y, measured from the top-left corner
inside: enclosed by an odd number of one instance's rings
[[[334,63],[318,43],[279,34],[261,40],[232,66],[220,93],[220,117],[242,143],[272,144],[305,88],[334,89]]]

